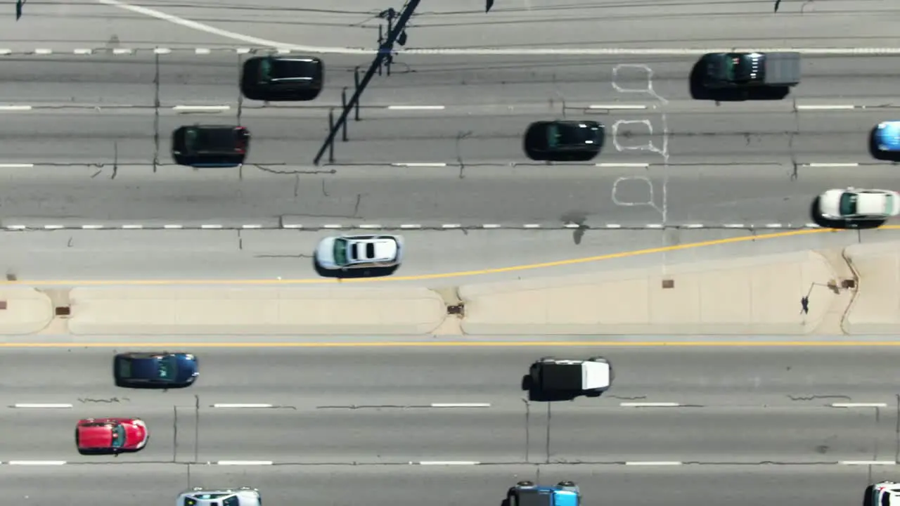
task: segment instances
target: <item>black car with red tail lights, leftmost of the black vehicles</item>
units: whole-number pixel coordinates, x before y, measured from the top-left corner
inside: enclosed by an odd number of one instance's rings
[[[234,125],[183,126],[172,132],[172,158],[187,167],[238,167],[250,148],[250,132]]]

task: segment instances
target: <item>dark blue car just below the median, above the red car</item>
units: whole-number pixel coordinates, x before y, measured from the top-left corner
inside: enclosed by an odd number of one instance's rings
[[[116,386],[125,388],[184,388],[200,375],[197,357],[190,353],[120,353],[112,360]]]

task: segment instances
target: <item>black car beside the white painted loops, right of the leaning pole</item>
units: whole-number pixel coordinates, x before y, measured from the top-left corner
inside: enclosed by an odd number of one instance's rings
[[[599,122],[534,122],[525,132],[525,154],[533,160],[588,161],[603,149]]]

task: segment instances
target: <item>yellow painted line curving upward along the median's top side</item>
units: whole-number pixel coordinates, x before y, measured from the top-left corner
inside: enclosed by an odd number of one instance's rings
[[[900,230],[900,226],[888,225],[881,227],[883,230]],[[463,276],[482,276],[489,274],[500,274],[532,269],[540,269],[546,267],[564,267],[577,264],[586,264],[590,262],[600,262],[603,260],[615,260],[617,258],[640,257],[643,255],[653,255],[654,253],[666,253],[669,251],[680,251],[682,249],[705,248],[708,246],[722,246],[725,244],[733,244],[738,242],[780,239],[801,235],[810,235],[818,233],[841,233],[847,230],[833,229],[811,229],[811,230],[790,230],[784,232],[775,232],[770,234],[749,235],[742,237],[733,237],[728,239],[713,239],[702,242],[691,242],[687,244],[679,244],[676,246],[662,246],[659,248],[636,249],[633,251],[622,251],[619,253],[608,253],[596,257],[570,258],[568,260],[556,260],[553,262],[543,262],[538,264],[527,264],[512,267],[498,267],[491,269],[478,269],[471,271],[457,271],[448,273],[426,274],[419,276],[391,276],[391,277],[374,277],[374,278],[357,278],[357,279],[337,279],[330,278],[313,278],[313,279],[131,279],[131,280],[22,280],[22,281],[0,281],[0,285],[28,285],[28,286],[47,286],[47,285],[66,285],[66,286],[112,286],[112,285],[322,285],[329,283],[385,283],[388,281],[421,281],[428,279],[442,279],[448,277]]]

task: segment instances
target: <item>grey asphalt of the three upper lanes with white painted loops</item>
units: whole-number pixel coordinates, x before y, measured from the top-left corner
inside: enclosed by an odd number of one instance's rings
[[[378,78],[364,104],[445,108],[364,109],[363,121],[349,123],[350,140],[336,145],[338,165],[316,169],[311,159],[328,130],[327,107],[320,105],[339,104],[339,86],[353,86],[349,69],[356,57],[335,57],[319,101],[299,108],[239,105],[239,122],[254,135],[243,170],[166,166],[156,172],[154,160],[171,163],[169,137],[177,126],[238,122],[238,56],[160,56],[158,110],[152,57],[79,58],[8,63],[0,91],[10,104],[52,107],[4,112],[14,121],[0,126],[8,140],[2,163],[38,164],[3,168],[10,183],[0,190],[7,220],[350,216],[381,224],[644,225],[664,214],[676,224],[806,223],[815,194],[848,185],[890,188],[896,172],[885,164],[816,166],[872,162],[868,132],[892,118],[889,108],[872,107],[892,103],[888,77],[896,58],[807,58],[797,104],[869,108],[797,111],[789,97],[690,101],[687,59],[446,57],[435,63],[436,57],[410,57],[409,72]],[[867,85],[852,86],[860,76]],[[641,89],[653,93],[621,91]],[[607,124],[605,152],[595,162],[609,166],[527,164],[522,132],[529,122],[561,117],[563,99],[566,117]],[[172,109],[184,104],[229,109]],[[591,104],[645,109],[586,110]],[[414,165],[391,165],[404,163]],[[449,165],[415,166],[420,163]]]

